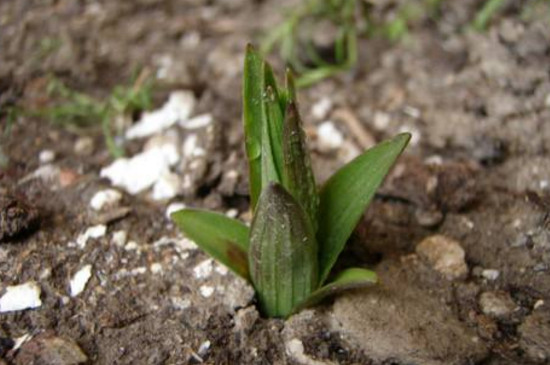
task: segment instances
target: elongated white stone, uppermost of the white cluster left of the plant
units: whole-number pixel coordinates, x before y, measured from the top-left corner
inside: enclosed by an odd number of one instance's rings
[[[144,113],[141,120],[126,131],[126,138],[143,138],[159,133],[178,121],[188,119],[194,107],[193,92],[174,91],[160,109]]]

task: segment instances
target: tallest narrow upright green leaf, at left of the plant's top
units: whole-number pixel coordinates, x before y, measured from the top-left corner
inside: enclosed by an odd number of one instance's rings
[[[252,45],[246,48],[243,74],[243,122],[252,209],[262,191],[262,130],[266,125],[263,101],[264,61]]]

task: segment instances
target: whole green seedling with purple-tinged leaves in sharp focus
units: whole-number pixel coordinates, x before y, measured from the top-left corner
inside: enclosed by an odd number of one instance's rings
[[[243,105],[251,227],[195,209],[173,213],[176,224],[252,283],[268,317],[287,317],[335,291],[375,283],[376,274],[363,268],[344,270],[325,282],[410,135],[371,148],[318,190],[292,74],[287,72],[286,87],[281,88],[269,64],[251,46],[244,64]]]

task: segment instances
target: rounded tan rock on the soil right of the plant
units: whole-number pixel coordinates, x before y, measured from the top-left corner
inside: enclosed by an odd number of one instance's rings
[[[416,246],[416,253],[449,280],[463,278],[468,274],[464,249],[457,241],[446,236],[425,238]]]

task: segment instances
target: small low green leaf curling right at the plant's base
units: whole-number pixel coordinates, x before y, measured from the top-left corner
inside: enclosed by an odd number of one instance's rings
[[[304,308],[311,307],[326,297],[344,290],[364,288],[377,282],[378,276],[374,271],[359,268],[346,269],[338,274],[334,281],[315,290],[305,301],[298,304],[292,312],[296,313]]]

